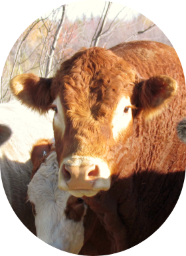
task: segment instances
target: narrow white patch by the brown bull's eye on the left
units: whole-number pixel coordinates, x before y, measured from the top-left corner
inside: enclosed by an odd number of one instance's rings
[[[60,103],[60,97],[57,96],[52,104],[56,105],[58,108],[58,113],[54,114],[54,127],[57,127],[61,131],[61,134],[63,137],[64,131],[65,131],[65,122],[64,122],[64,112],[62,109],[62,105]]]

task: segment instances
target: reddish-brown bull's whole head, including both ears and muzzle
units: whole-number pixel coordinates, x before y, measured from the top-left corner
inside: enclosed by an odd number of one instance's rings
[[[146,119],[157,115],[177,83],[163,75],[140,82],[126,61],[93,47],[62,63],[53,79],[19,75],[11,88],[33,109],[55,111],[58,187],[91,197],[110,188],[117,145],[132,135],[133,109]]]

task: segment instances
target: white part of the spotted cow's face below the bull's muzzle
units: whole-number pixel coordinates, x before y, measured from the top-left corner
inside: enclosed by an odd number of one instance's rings
[[[41,164],[29,183],[28,195],[35,204],[37,237],[56,249],[78,254],[84,243],[84,218],[79,222],[66,219],[64,210],[70,193],[58,189],[56,152]]]

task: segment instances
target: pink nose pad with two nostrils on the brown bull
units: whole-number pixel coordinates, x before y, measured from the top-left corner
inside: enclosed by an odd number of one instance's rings
[[[62,176],[69,189],[92,189],[100,176],[98,165],[62,166]]]

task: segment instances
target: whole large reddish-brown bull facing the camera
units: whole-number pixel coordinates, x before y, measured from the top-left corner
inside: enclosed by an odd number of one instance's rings
[[[175,129],[186,115],[186,87],[175,49],[151,41],[82,49],[54,78],[18,75],[11,89],[27,106],[56,112],[58,186],[85,196],[111,253],[161,227],[186,169]]]

